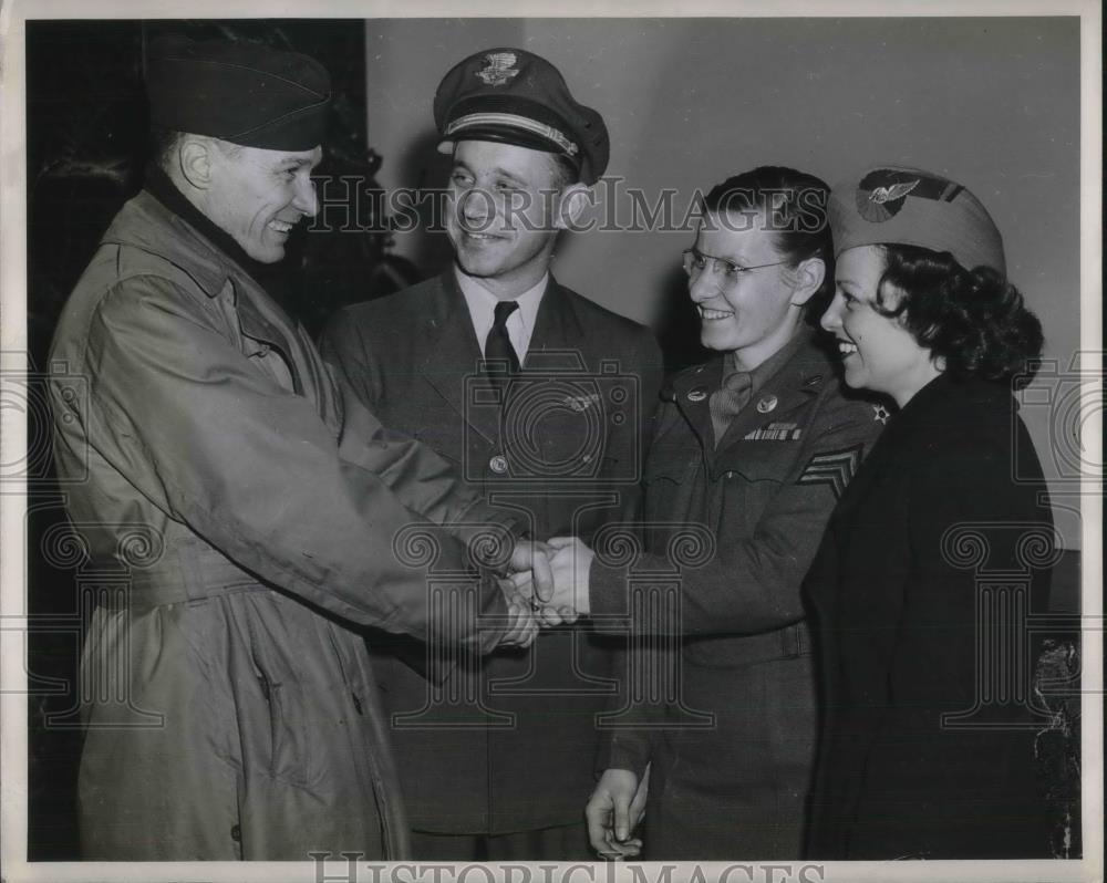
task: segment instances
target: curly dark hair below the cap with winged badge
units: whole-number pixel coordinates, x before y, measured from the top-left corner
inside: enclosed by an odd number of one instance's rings
[[[1025,386],[1042,354],[1042,323],[1023,295],[991,267],[966,270],[948,251],[883,245],[884,272],[873,304],[899,319],[954,377]],[[888,297],[888,295],[893,297]]]

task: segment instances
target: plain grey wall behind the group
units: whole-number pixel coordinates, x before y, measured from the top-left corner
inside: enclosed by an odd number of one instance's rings
[[[766,163],[831,185],[870,162],[964,184],[1003,232],[1008,276],[1042,319],[1046,357],[1065,368],[1078,349],[1076,18],[375,19],[365,39],[369,143],[384,158],[385,188],[443,186],[431,111],[438,82],[472,52],[519,46],[552,61],[578,101],[603,114],[607,174],[650,202],[674,188],[677,218],[697,188]],[[628,206],[623,197],[620,217]],[[663,332],[691,241],[690,232],[596,230],[570,237],[554,269]],[[424,276],[449,254],[444,236],[422,231],[399,235],[396,251]],[[1051,384],[1031,394],[1041,399]],[[1044,404],[1025,404],[1023,416],[1055,472],[1070,427]],[[1058,510],[1057,524],[1079,548],[1078,519]]]

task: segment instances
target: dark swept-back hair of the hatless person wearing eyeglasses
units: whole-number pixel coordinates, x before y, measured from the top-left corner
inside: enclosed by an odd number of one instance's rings
[[[704,209],[713,214],[763,212],[775,232],[776,252],[793,266],[808,258],[823,261],[823,284],[804,305],[804,318],[816,328],[834,298],[829,198],[827,183],[815,175],[787,166],[758,166],[716,185],[703,200]]]

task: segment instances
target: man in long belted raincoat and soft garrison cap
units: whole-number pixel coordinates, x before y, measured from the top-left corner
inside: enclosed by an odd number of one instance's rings
[[[317,210],[323,67],[182,38],[147,58],[153,167],[50,360],[58,471],[86,476],[69,513],[90,567],[124,586],[96,596],[85,643],[83,853],[404,858],[355,627],[477,654],[526,644],[530,605],[503,574],[532,563],[529,547],[442,458],[343,396],[258,283]],[[86,408],[65,394],[74,374]],[[431,547],[434,561],[418,554]],[[451,603],[479,629],[428,603],[432,565],[462,574]]]

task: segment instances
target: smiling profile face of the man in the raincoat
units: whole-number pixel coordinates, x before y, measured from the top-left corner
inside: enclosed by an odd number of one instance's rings
[[[319,210],[311,172],[323,152],[265,150],[213,142],[203,211],[257,261],[284,257],[292,227]]]

